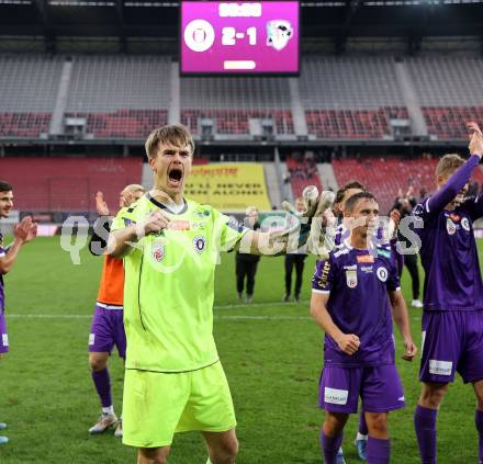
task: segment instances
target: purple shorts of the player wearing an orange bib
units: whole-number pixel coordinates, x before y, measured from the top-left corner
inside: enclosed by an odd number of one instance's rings
[[[106,309],[96,305],[89,335],[89,351],[111,353],[114,344],[121,358],[126,358],[126,333],[122,309]]]

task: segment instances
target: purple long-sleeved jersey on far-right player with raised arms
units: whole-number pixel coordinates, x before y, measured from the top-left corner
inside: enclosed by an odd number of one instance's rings
[[[468,199],[454,211],[445,210],[479,162],[479,157],[473,155],[437,193],[414,208],[426,273],[425,310],[483,309],[483,284],[472,225],[483,216],[483,195]]]

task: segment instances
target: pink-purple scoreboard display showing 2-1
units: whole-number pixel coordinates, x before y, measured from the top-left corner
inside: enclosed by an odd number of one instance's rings
[[[180,71],[297,75],[299,2],[181,2]]]

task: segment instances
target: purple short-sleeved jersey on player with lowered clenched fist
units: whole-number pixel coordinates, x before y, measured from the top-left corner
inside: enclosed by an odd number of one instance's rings
[[[400,278],[390,246],[358,250],[342,242],[327,260],[317,261],[312,287],[315,293],[329,294],[327,310],[334,324],[360,339],[359,350],[348,355],[326,335],[325,364],[360,367],[394,363],[387,290],[400,290]]]

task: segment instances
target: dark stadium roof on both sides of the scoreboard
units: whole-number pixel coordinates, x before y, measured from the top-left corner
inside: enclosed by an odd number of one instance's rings
[[[304,38],[483,35],[483,0],[303,1]],[[0,36],[178,36],[179,2],[0,0]]]

